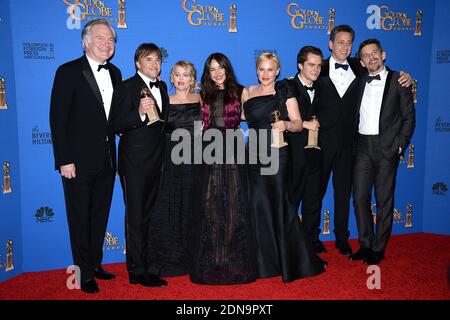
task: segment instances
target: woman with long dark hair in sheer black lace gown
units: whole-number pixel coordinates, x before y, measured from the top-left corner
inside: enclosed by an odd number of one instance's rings
[[[190,278],[199,284],[248,283],[255,281],[256,269],[247,172],[236,163],[236,149],[225,147],[226,135],[241,132],[242,87],[221,53],[207,58],[201,82],[203,140],[218,140],[203,142],[203,163],[196,166]],[[237,136],[235,142],[243,143],[242,133]],[[211,151],[213,143],[218,147]],[[229,163],[231,156],[235,161]]]

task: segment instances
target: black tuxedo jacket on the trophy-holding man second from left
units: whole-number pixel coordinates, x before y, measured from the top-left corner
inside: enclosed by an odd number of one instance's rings
[[[164,127],[167,123],[169,111],[169,96],[167,85],[159,81],[161,92],[162,112],[157,108],[159,117],[165,122],[155,122],[150,126],[148,117],[145,121],[139,115],[139,102],[141,100],[141,89],[146,88],[144,80],[135,74],[124,81],[114,92],[112,103],[112,123],[114,132],[120,135],[119,142],[119,165],[120,175],[142,173],[152,175],[161,171]],[[157,104],[156,99],[151,98]]]

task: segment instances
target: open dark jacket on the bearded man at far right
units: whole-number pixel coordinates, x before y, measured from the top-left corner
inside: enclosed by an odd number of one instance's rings
[[[416,125],[416,112],[411,87],[402,87],[398,83],[400,74],[387,67],[386,69],[388,70],[388,76],[383,91],[378,134],[383,157],[389,160],[399,155],[399,147],[403,154],[409,145]],[[367,76],[365,75],[360,79],[361,85],[356,114],[357,129],[359,127],[359,110],[361,109]]]

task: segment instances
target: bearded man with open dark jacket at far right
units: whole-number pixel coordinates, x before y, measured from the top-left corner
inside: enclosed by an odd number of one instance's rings
[[[411,89],[399,85],[400,74],[385,67],[386,53],[377,39],[362,42],[358,55],[369,74],[361,79],[353,173],[361,247],[350,258],[378,264],[392,231],[398,162],[414,131],[415,110]],[[377,205],[375,235],[370,209],[373,187]]]

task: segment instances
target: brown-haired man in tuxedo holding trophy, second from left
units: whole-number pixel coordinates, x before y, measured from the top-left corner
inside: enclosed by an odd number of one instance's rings
[[[119,175],[125,201],[126,257],[129,281],[144,286],[165,286],[147,261],[150,213],[156,201],[163,159],[164,122],[150,124],[147,111],[167,120],[167,85],[158,79],[161,50],[143,43],[134,55],[137,73],[114,94],[113,126],[119,134]],[[142,90],[149,96],[141,97]]]

